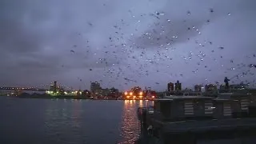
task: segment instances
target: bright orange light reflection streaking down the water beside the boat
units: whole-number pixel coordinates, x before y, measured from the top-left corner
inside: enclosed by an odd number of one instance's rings
[[[133,143],[139,136],[138,128],[139,122],[137,118],[137,109],[139,106],[151,106],[152,102],[146,101],[124,101],[124,109],[122,112],[122,128],[121,138],[122,142],[119,144]]]

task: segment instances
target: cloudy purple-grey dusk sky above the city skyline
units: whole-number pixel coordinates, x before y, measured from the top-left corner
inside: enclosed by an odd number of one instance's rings
[[[2,0],[0,86],[256,86],[254,0]]]

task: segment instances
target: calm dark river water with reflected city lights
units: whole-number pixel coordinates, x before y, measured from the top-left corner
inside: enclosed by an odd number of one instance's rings
[[[0,142],[33,144],[133,143],[142,101],[0,97]]]

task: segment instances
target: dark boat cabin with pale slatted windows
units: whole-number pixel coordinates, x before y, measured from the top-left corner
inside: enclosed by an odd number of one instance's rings
[[[154,118],[161,121],[231,118],[240,112],[237,100],[198,96],[178,96],[154,101]]]

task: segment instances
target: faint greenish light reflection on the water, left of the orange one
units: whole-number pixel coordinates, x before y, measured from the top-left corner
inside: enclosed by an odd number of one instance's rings
[[[82,142],[82,102],[51,101],[45,110],[45,133],[49,142]]]

